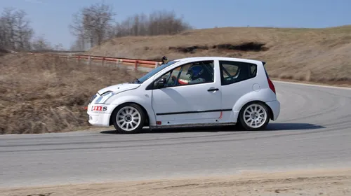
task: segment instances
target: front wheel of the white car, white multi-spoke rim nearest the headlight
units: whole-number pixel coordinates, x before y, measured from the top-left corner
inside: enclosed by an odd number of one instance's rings
[[[112,114],[112,123],[121,134],[134,134],[143,129],[145,113],[137,104],[122,104]]]

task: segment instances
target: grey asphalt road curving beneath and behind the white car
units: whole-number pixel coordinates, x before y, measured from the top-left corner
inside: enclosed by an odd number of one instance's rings
[[[351,166],[351,90],[275,83],[267,131],[163,130],[0,136],[0,186]]]

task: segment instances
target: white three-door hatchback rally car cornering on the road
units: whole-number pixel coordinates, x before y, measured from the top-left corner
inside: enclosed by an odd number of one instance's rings
[[[280,113],[265,62],[229,57],[170,61],[133,82],[99,90],[87,108],[91,125],[114,125],[119,133],[235,124],[263,130]]]

